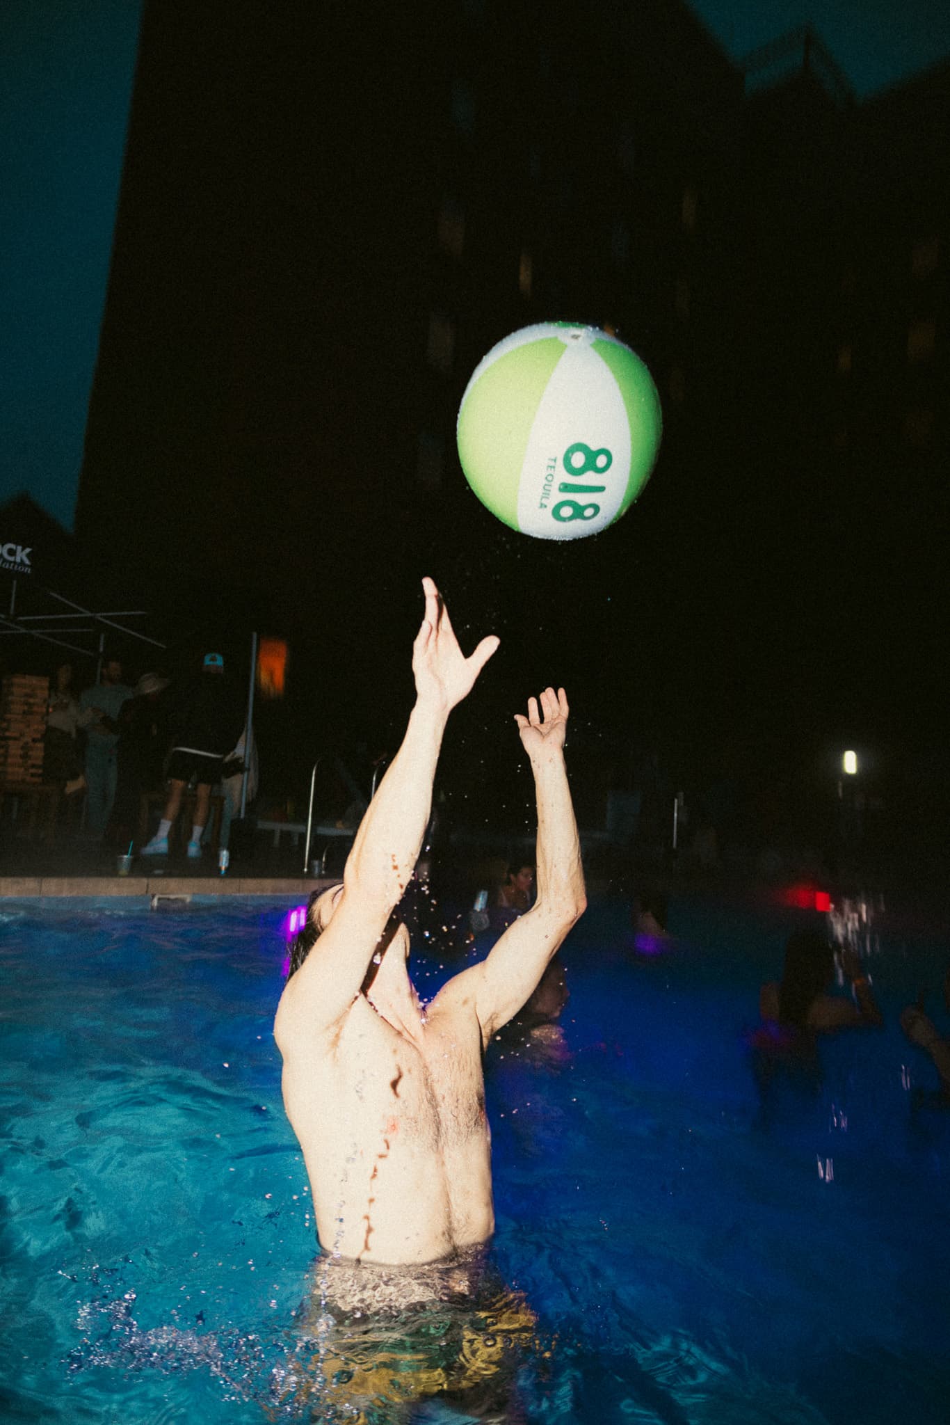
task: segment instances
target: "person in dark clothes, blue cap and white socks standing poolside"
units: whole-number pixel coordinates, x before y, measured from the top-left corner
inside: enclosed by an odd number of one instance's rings
[[[205,654],[201,677],[188,690],[174,718],[178,734],[168,761],[168,801],[158,831],[142,846],[142,856],[167,856],[168,832],[181,809],[181,798],[188,782],[195,779],[195,821],[188,842],[188,856],[201,858],[201,834],[211,808],[211,788],[221,778],[225,754],[235,745],[244,725],[244,708],[225,683],[224,658],[219,653]]]

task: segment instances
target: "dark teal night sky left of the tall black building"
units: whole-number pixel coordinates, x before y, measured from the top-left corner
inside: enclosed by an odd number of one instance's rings
[[[0,6],[0,503],[70,527],[132,90],[140,0]]]

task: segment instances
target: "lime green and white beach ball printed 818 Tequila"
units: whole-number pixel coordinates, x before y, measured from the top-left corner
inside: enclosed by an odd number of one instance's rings
[[[584,539],[630,509],[659,449],[640,356],[598,326],[540,322],[493,346],[459,408],[459,459],[481,503],[534,539]]]

